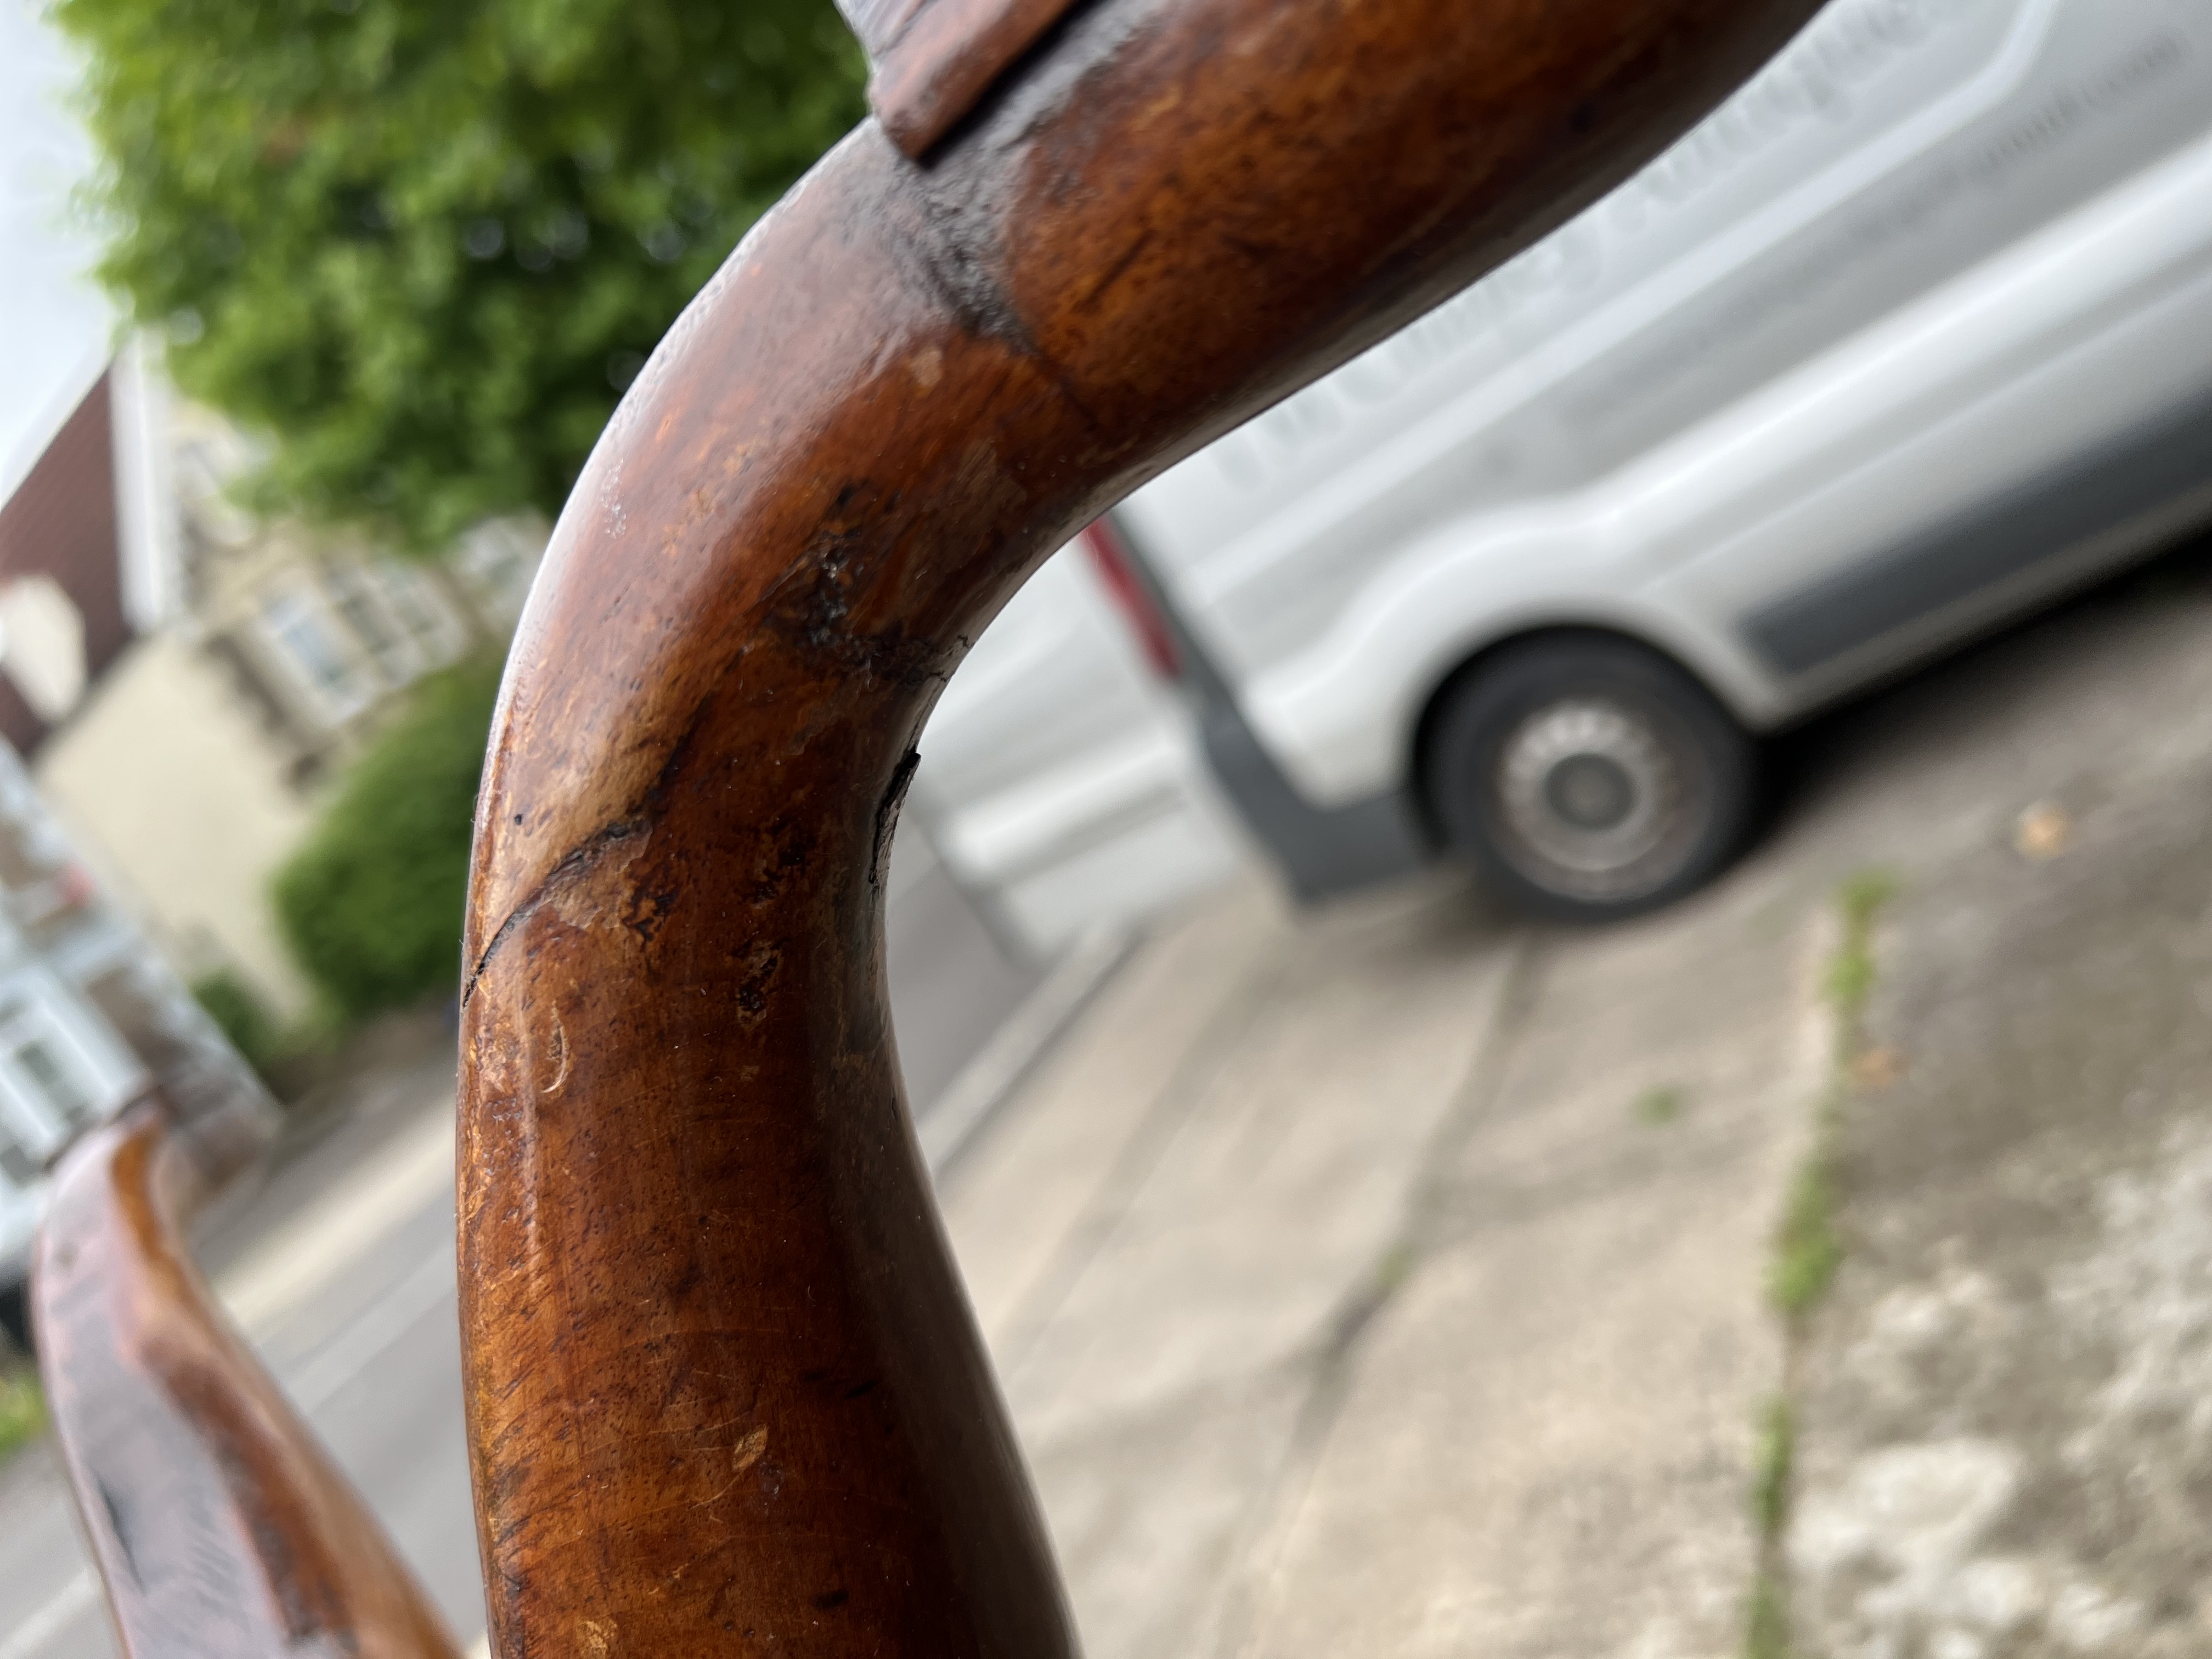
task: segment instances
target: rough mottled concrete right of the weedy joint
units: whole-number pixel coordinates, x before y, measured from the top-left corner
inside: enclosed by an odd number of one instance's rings
[[[1896,902],[1801,1389],[1803,1655],[2212,1652],[2212,768]]]

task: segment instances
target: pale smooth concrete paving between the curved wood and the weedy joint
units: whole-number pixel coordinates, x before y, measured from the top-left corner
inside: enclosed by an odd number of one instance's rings
[[[1139,951],[942,1192],[1093,1659],[1739,1628],[1820,914],[1241,887]]]

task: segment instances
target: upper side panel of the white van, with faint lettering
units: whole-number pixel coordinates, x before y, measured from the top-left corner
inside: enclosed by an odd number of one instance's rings
[[[2203,131],[2190,0],[1845,0],[1619,192],[1124,509],[1239,681]],[[1648,549],[1666,560],[1688,549]]]

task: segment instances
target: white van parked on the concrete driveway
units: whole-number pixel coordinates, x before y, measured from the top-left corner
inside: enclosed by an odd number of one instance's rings
[[[1610,916],[1730,856],[1756,732],[2205,520],[2212,0],[1836,0],[1617,192],[1137,491],[1088,557],[1164,639],[1183,712],[1152,721],[1208,761],[1192,823],[1225,799],[1307,896],[1462,854]],[[969,672],[925,776],[978,719],[1051,765],[938,779],[953,869],[1006,891],[969,827],[1015,796],[1013,885],[1055,865],[1055,812],[1104,863],[1104,748],[1051,668],[1000,668],[989,712]]]

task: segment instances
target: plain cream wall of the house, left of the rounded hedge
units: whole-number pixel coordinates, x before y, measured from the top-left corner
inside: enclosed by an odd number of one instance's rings
[[[170,633],[137,641],[31,772],[179,969],[228,964],[279,1018],[305,1011],[268,880],[312,814],[219,668]]]

